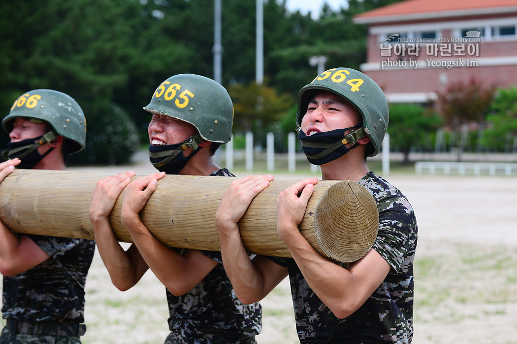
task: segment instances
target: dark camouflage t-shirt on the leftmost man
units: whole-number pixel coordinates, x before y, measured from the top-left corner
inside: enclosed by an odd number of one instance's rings
[[[50,258],[32,269],[4,276],[4,319],[84,322],[84,286],[95,241],[28,235]]]

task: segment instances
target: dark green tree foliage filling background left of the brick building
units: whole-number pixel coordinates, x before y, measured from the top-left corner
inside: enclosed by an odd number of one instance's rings
[[[294,102],[299,89],[315,76],[316,68],[308,62],[311,56],[326,55],[329,68],[357,69],[364,62],[367,31],[366,26],[353,24],[352,17],[390,2],[353,0],[338,11],[325,6],[314,20],[310,14],[287,11],[285,0],[266,0],[264,77],[265,86],[275,92],[267,93],[268,88],[260,92],[267,91],[262,96],[275,104],[264,108],[276,107],[276,113],[262,122],[279,121],[285,113],[278,106],[284,103],[284,94]],[[222,2],[222,84],[227,88],[252,87],[255,11],[254,1]],[[139,145],[133,128],[140,141],[147,140],[149,116],[142,108],[156,87],[179,73],[214,74],[214,0],[3,1],[0,26],[3,116],[28,90],[50,88],[74,97],[88,123],[87,151],[73,156],[78,162],[127,161],[130,146]],[[248,101],[246,95],[234,96],[238,102]],[[234,103],[239,107],[252,108],[238,102]],[[256,116],[270,115],[263,111]],[[256,118],[245,118],[249,122],[239,120],[239,125],[256,127]],[[134,124],[126,125],[127,121]],[[124,148],[113,140],[94,142],[104,134],[114,135],[108,133],[111,125],[124,128],[117,132]],[[7,140],[2,136],[0,143]]]

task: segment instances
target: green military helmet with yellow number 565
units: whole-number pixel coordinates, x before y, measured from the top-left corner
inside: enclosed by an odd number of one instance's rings
[[[178,74],[166,79],[144,110],[188,122],[207,141],[226,143],[232,136],[230,95],[217,81],[201,75]]]

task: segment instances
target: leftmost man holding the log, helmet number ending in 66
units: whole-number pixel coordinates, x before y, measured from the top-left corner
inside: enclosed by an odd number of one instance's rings
[[[22,94],[2,121],[10,142],[0,181],[14,169],[65,170],[85,147],[86,119],[69,95],[47,89]],[[5,327],[0,343],[80,343],[84,286],[95,241],[19,235],[0,222]]]

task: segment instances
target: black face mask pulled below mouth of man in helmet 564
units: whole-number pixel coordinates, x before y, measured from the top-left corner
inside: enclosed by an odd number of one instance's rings
[[[313,165],[323,165],[324,163],[336,160],[342,157],[349,150],[359,146],[357,140],[366,135],[364,128],[352,130],[351,133],[345,135],[346,130],[359,127],[356,125],[344,129],[330,130],[329,132],[320,132],[307,136],[300,129],[298,140],[301,141],[303,153],[307,156],[307,160]],[[351,143],[351,148],[346,148],[345,144]]]

